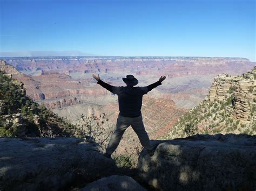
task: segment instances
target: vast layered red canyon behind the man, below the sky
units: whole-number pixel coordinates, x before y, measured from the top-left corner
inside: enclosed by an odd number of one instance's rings
[[[99,74],[113,86],[125,86],[122,77],[127,74],[139,80],[138,86],[166,75],[163,84],[143,99],[142,114],[150,139],[166,135],[183,114],[204,100],[216,75],[241,75],[254,65],[244,58],[200,57],[35,57],[1,61],[1,69],[22,81],[26,95],[36,102],[73,124],[82,114],[104,113],[110,129],[114,129],[118,116],[117,95],[99,86],[92,74]],[[132,129],[127,129],[120,152],[126,145],[138,146],[137,139]]]

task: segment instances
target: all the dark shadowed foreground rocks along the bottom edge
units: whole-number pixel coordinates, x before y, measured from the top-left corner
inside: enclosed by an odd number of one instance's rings
[[[153,141],[140,154],[144,185],[156,190],[255,190],[256,136],[196,135]],[[77,138],[0,138],[0,190],[145,190],[117,175],[99,146]]]

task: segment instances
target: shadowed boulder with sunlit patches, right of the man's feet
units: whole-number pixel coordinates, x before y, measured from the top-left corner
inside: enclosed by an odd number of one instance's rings
[[[140,154],[141,178],[159,190],[255,190],[256,136],[196,135],[163,140]]]

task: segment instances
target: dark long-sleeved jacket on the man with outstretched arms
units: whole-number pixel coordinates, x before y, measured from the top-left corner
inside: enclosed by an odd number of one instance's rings
[[[108,83],[99,80],[97,82],[100,86],[111,91],[113,94],[117,94],[119,103],[119,115],[124,117],[138,117],[142,115],[140,109],[142,109],[142,97],[144,94],[151,91],[153,88],[161,85],[160,81],[150,84],[145,87],[133,87],[133,86],[111,86]]]

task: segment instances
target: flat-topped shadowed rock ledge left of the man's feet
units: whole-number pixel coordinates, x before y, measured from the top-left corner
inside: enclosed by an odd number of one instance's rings
[[[111,175],[96,143],[77,138],[0,138],[0,190],[58,190]]]

